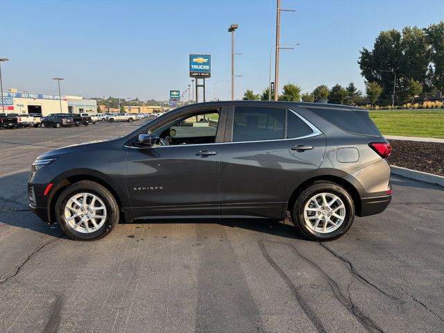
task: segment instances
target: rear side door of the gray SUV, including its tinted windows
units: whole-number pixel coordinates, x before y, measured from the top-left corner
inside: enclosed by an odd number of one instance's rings
[[[286,108],[230,108],[221,158],[222,216],[282,216],[287,193],[321,165],[325,136]]]

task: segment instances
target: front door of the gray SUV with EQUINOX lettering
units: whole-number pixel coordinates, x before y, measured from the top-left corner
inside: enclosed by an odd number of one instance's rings
[[[126,179],[135,217],[220,216],[220,116],[221,110],[186,114],[150,129],[150,148],[129,148]]]

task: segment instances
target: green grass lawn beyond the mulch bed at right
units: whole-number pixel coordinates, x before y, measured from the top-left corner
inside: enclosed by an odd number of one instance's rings
[[[384,135],[444,138],[444,110],[370,111]]]

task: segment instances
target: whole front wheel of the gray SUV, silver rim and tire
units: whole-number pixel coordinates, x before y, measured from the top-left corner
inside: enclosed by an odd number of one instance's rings
[[[108,189],[96,182],[82,180],[60,194],[56,203],[56,221],[71,239],[100,239],[119,222],[119,206]]]

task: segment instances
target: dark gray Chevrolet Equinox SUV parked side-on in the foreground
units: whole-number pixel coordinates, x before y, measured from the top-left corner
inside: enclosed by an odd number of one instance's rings
[[[391,146],[367,110],[230,101],[178,108],[133,133],[37,157],[30,207],[72,239],[137,219],[284,219],[341,237],[391,200]]]

